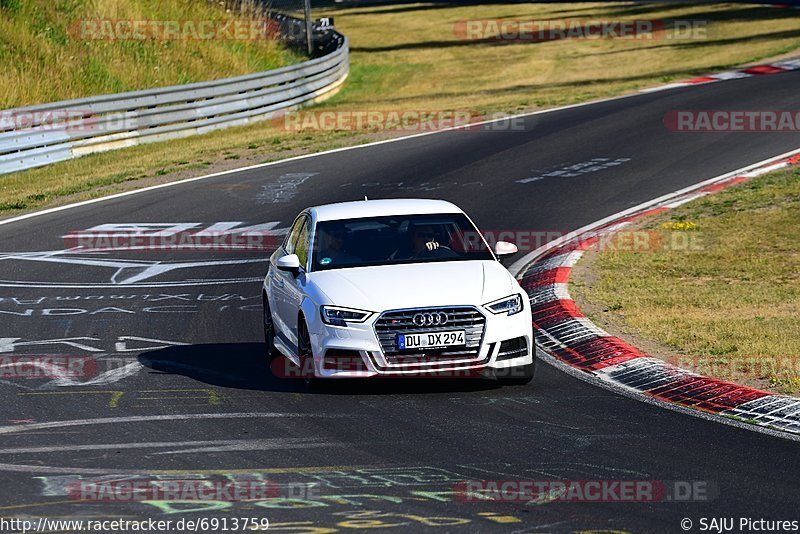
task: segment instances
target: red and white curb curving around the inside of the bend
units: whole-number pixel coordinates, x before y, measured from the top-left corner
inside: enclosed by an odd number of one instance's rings
[[[533,251],[509,269],[530,297],[539,348],[556,362],[591,375],[612,389],[684,408],[800,434],[800,398],[709,378],[653,358],[594,325],[570,298],[570,271],[584,251],[652,213],[766,172],[800,164],[800,150],[712,178],[612,215]],[[576,374],[576,373],[573,373]]]

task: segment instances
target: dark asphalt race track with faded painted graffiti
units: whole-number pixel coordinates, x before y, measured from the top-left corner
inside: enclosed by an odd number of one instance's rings
[[[542,362],[524,387],[406,380],[308,392],[264,363],[268,253],[60,251],[63,236],[104,224],[279,230],[306,206],[364,195],[451,200],[486,231],[567,232],[800,146],[796,133],[673,133],[669,111],[792,110],[799,89],[800,71],[642,94],[528,116],[522,130],[411,138],[0,226],[0,357],[70,356],[86,371],[2,378],[0,516],[267,517],[270,530],[293,532],[680,532],[683,518],[695,530],[701,517],[797,519],[795,441],[654,407]],[[554,172],[567,167],[591,172]],[[70,492],[81,479],[170,476],[265,477],[316,493],[177,503]],[[708,491],[622,503],[454,494],[474,479]]]

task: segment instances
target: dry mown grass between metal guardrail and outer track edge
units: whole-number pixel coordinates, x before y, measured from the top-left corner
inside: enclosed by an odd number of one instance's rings
[[[411,4],[314,13],[323,14],[334,15],[350,38],[351,74],[317,111],[515,113],[624,94],[800,48],[794,11],[743,4]],[[706,33],[692,39],[486,43],[460,39],[454,31],[458,21],[496,18],[691,19],[701,21]],[[96,154],[0,176],[0,215],[400,133],[298,133],[264,122]]]

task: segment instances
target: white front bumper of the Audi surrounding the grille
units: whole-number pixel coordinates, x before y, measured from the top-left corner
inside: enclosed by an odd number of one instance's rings
[[[314,354],[314,374],[320,378],[477,377],[492,369],[518,367],[533,362],[535,352],[530,308],[512,316],[485,317],[483,336],[475,355],[467,358],[425,356],[387,359],[375,331],[376,314],[367,322],[346,327],[321,320],[309,325]],[[513,342],[512,340],[518,340]]]

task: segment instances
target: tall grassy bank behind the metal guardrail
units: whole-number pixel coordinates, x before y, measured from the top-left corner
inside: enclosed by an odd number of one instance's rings
[[[142,35],[165,38],[92,38],[124,36],[130,26],[117,34],[101,21],[175,23],[185,38],[144,27]],[[203,1],[0,0],[0,109],[249,74],[299,61],[274,40],[217,32],[226,21],[242,28],[250,22]],[[209,38],[192,33],[201,27]],[[214,35],[220,38],[210,38]]]

